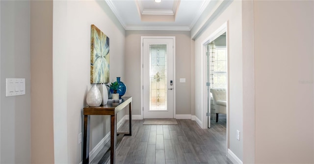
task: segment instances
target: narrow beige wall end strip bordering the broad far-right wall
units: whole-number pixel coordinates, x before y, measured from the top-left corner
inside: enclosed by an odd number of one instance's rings
[[[254,1],[242,0],[243,160],[255,162]]]

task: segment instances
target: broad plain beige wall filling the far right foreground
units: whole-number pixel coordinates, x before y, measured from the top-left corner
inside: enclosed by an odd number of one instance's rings
[[[314,159],[314,2],[254,1],[255,162]]]

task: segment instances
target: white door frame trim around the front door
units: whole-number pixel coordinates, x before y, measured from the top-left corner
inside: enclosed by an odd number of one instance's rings
[[[141,119],[143,119],[143,113],[144,113],[144,101],[143,101],[143,46],[144,46],[144,39],[173,39],[173,118],[176,118],[176,37],[175,36],[141,36]]]

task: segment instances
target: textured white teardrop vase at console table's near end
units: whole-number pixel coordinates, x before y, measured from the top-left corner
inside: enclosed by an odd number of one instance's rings
[[[88,91],[86,96],[86,103],[90,107],[98,107],[102,104],[102,95],[96,84]]]

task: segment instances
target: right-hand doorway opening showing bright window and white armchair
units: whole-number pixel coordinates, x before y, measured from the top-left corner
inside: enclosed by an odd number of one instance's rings
[[[219,118],[226,118],[227,115],[226,32],[210,42],[207,47],[207,110],[208,128],[210,128],[210,120],[215,119],[215,122],[218,122]]]

